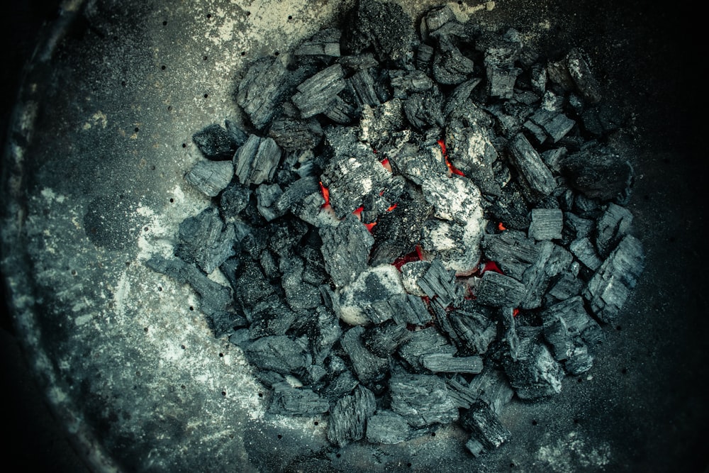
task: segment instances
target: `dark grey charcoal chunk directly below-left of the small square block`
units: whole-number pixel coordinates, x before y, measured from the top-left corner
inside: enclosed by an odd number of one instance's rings
[[[539,254],[535,241],[518,230],[485,235],[482,247],[487,259],[498,263],[506,275],[518,280],[522,279]]]

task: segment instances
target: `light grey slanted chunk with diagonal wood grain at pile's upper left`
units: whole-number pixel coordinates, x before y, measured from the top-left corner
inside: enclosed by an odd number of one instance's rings
[[[345,79],[342,66],[336,63],[298,85],[296,87],[298,91],[291,97],[291,100],[301,111],[303,118],[310,118],[330,110],[335,97],[344,88]]]

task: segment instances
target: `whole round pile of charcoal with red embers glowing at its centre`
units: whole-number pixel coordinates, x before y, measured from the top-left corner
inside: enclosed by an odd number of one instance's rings
[[[147,265],[199,294],[269,413],[328,413],[340,447],[459,422],[480,455],[514,395],[591,369],[642,272],[608,145],[625,117],[581,50],[540,57],[447,6],[418,32],[369,0],[343,24],[247,68],[245,123],[193,137],[213,206]]]

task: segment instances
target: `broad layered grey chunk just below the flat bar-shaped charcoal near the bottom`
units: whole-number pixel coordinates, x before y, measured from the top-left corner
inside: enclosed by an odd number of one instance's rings
[[[415,428],[457,420],[458,408],[445,381],[428,374],[395,374],[389,379],[391,410]]]

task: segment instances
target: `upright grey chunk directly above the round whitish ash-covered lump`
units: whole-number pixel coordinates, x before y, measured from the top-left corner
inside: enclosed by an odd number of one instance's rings
[[[335,286],[347,286],[367,269],[374,238],[357,217],[350,213],[339,225],[320,229],[325,269]]]

